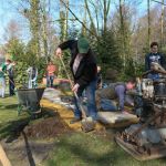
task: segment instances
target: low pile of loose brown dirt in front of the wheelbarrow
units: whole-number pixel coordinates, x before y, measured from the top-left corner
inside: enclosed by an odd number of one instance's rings
[[[51,138],[63,133],[70,132],[71,128],[60,117],[53,116],[24,128],[28,137]]]

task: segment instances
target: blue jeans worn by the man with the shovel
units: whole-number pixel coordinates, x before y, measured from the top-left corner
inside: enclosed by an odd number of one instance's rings
[[[77,91],[77,96],[81,97],[83,91],[85,90],[85,95],[87,97],[87,112],[89,116],[91,116],[93,120],[96,120],[97,111],[96,111],[96,104],[95,104],[95,90],[96,90],[96,80],[92,81],[84,89],[79,89]],[[76,98],[74,97],[74,104],[75,104],[75,110],[74,110],[74,116],[76,118],[82,117],[82,112],[80,111],[79,104],[76,102]]]

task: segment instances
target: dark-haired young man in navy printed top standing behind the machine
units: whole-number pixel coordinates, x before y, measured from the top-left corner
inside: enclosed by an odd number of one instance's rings
[[[151,53],[145,55],[145,71],[152,71],[147,77],[157,80],[159,79],[159,74],[155,72],[153,69],[153,63],[158,63],[163,68],[165,68],[165,58],[162,53],[158,52],[158,43],[152,42],[151,43]]]

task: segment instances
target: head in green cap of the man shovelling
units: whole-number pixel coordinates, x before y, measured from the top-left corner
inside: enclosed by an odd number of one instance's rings
[[[90,50],[90,43],[86,38],[80,38],[77,40],[77,50],[81,54],[86,54]]]

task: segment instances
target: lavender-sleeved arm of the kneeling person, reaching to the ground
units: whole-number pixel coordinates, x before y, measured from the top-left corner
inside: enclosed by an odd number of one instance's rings
[[[124,85],[117,85],[115,87],[116,95],[118,97],[118,108],[120,111],[124,110],[124,100],[125,100],[125,86]]]

